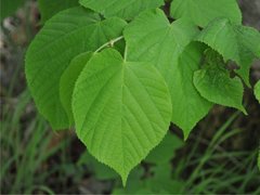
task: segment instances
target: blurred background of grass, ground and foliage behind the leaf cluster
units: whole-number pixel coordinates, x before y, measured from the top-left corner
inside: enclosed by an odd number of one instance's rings
[[[46,15],[40,16],[38,3]],[[126,188],[114,170],[88,153],[74,130],[53,132],[38,115],[24,76],[25,51],[53,14],[41,0],[38,3],[1,0],[1,194],[260,194],[260,106],[249,89],[245,92],[249,116],[214,106],[186,142],[171,126],[132,170]],[[72,5],[48,3],[56,10]],[[244,23],[260,29],[260,1],[240,1],[240,8]],[[256,62],[251,83],[259,78]]]

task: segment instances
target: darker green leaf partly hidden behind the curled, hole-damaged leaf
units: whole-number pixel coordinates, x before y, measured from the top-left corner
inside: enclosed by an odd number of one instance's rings
[[[200,67],[204,49],[197,42],[188,44],[172,73],[172,121],[183,130],[185,140],[212,107],[212,103],[204,99],[193,84],[193,75]]]

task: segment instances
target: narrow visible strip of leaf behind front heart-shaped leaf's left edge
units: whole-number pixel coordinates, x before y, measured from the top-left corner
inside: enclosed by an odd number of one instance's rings
[[[87,65],[92,55],[92,52],[86,52],[73,58],[60,80],[60,98],[62,105],[67,113],[69,126],[72,126],[74,122],[72,108],[74,87],[79,74],[82,72],[83,67]]]

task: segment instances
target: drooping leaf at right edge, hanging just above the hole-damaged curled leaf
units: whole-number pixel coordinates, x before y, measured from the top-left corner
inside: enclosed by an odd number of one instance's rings
[[[237,74],[249,83],[249,69],[255,57],[260,57],[260,34],[258,30],[234,25],[226,18],[211,22],[196,38],[223,55],[236,62],[240,69]]]

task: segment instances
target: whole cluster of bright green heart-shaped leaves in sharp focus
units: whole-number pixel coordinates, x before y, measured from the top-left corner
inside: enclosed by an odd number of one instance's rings
[[[236,0],[173,0],[170,15],[158,9],[162,0],[79,3],[36,36],[26,78],[52,128],[76,126],[123,184],[170,122],[187,139],[213,104],[247,114],[243,81],[250,86],[260,34],[242,25]]]

